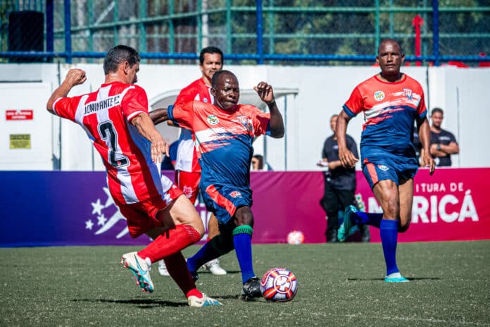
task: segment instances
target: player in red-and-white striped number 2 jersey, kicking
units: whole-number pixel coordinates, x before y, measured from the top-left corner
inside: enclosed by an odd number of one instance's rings
[[[83,70],[71,69],[46,107],[79,124],[101,154],[108,188],[127,218],[131,237],[146,233],[153,238],[144,249],[122,255],[121,264],[131,271],[137,285],[153,292],[151,263],[165,259],[189,306],[219,305],[197,290],[181,253],[201,239],[204,226],[194,205],[161,175],[157,165],[168,154],[168,144],[149,117],[146,92],[134,85],[139,62],[138,52],[131,47],[113,47],[103,62],[106,78],[99,90],[67,97],[75,85],[87,80]]]

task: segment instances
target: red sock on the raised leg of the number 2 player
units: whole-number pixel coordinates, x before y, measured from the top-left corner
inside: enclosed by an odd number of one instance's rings
[[[161,260],[199,241],[201,235],[192,226],[177,225],[174,229],[156,237],[147,247],[138,252],[142,259],[149,258],[151,262]],[[180,254],[182,257],[182,254]],[[183,257],[182,257],[183,259]],[[185,261],[184,261],[185,263]]]

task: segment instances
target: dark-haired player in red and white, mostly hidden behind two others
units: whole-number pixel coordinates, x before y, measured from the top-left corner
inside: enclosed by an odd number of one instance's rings
[[[202,101],[213,104],[213,94],[211,94],[211,78],[214,73],[221,70],[223,66],[223,53],[217,47],[206,47],[199,54],[199,68],[201,69],[201,78],[191,82],[184,87],[175,104],[181,104],[189,101]],[[168,121],[170,123],[170,121]],[[197,161],[196,148],[191,130],[182,128],[180,130],[179,146],[177,148],[177,159],[175,161],[175,184],[184,192],[189,200],[194,204],[199,195],[199,182],[201,181],[201,166]],[[211,214],[208,221],[208,240],[220,233],[218,229],[218,219]],[[226,275],[225,269],[220,266],[219,259],[213,259],[203,265],[213,275]],[[165,262],[158,262],[158,272],[162,276],[168,276],[165,268]]]

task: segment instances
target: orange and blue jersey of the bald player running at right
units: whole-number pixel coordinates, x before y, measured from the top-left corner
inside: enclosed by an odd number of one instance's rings
[[[364,113],[360,141],[363,162],[387,153],[415,158],[414,121],[427,116],[427,109],[420,83],[403,76],[394,83],[372,76],[356,86],[343,106],[350,117]]]

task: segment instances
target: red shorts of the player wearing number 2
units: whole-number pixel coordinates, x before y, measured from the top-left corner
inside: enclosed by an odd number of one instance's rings
[[[127,219],[127,229],[131,237],[135,238],[155,227],[162,227],[161,221],[156,219],[156,213],[165,209],[170,202],[182,195],[182,191],[175,185],[160,197],[151,197],[142,202],[121,204],[119,210]]]

